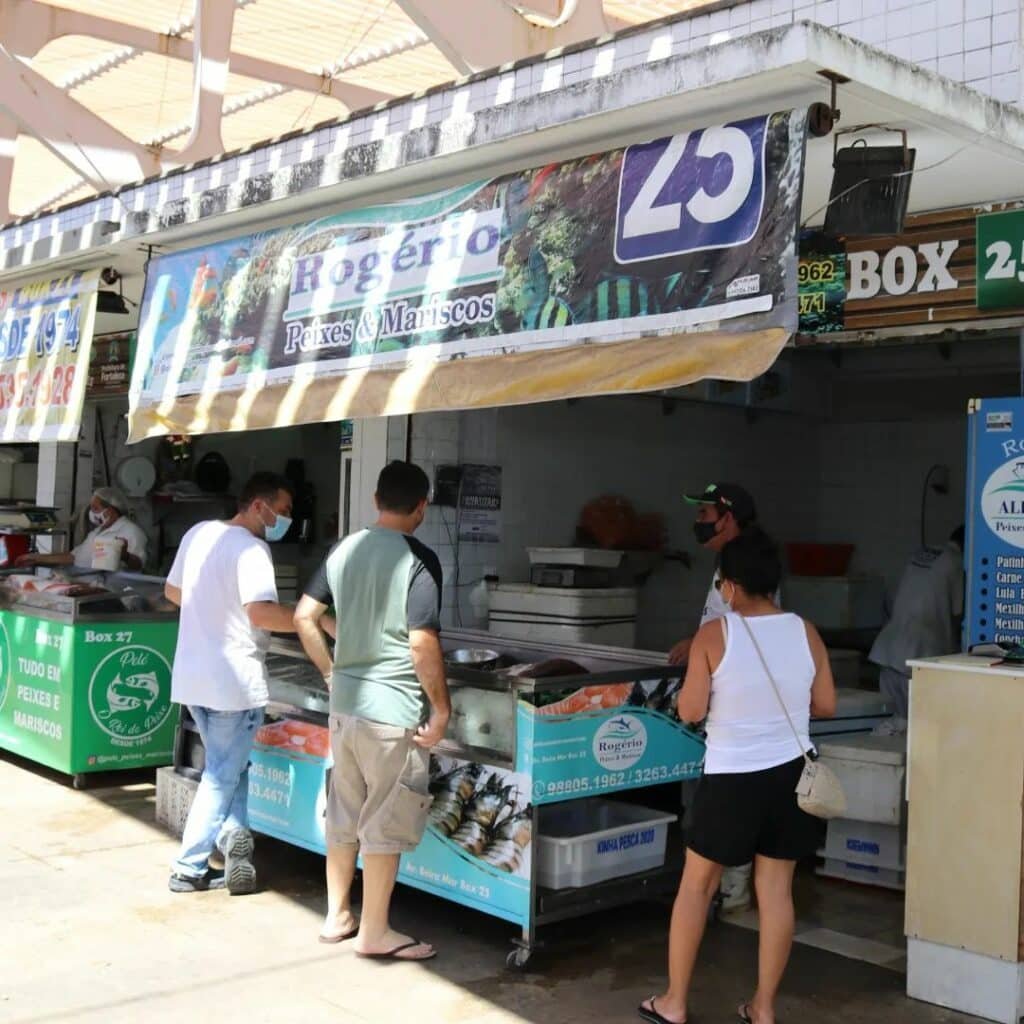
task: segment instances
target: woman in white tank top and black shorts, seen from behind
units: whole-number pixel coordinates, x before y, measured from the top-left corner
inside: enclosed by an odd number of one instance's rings
[[[683,1024],[708,908],[723,868],[754,859],[760,916],[758,984],[739,1007],[748,1024],[774,1024],[775,994],[793,944],[793,876],[814,853],[820,822],[797,804],[804,768],[779,696],[804,751],[810,716],[836,712],[836,686],[821,637],[799,615],[780,611],[781,577],[774,543],[749,528],[722,549],[717,583],[727,608],[693,639],[679,717],[707,716],[708,751],[687,836],[686,864],[672,910],[669,987],[645,999],[651,1024]],[[759,653],[760,648],[760,653]]]

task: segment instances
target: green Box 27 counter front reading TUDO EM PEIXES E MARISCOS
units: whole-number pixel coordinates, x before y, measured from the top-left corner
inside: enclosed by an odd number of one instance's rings
[[[78,774],[170,764],[177,624],[0,612],[0,748]]]

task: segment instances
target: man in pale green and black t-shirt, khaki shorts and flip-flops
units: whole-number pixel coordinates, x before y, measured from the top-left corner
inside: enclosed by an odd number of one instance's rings
[[[433,946],[391,928],[400,854],[423,838],[430,809],[429,751],[451,715],[440,646],[441,567],[412,535],[430,481],[392,462],[377,481],[379,517],[340,541],[295,614],[302,645],[331,690],[334,770],[327,804],[327,918],[321,942],[355,939],[358,955],[422,961]],[[337,615],[332,662],[319,624]],[[362,914],[351,886],[362,854]]]

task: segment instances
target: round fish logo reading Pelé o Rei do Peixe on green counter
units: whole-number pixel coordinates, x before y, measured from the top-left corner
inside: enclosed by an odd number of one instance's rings
[[[122,745],[152,736],[171,708],[171,667],[152,647],[118,647],[100,660],[89,681],[92,720]]]

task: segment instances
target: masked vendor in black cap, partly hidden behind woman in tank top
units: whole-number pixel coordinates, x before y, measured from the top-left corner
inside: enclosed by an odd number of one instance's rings
[[[716,555],[757,523],[758,510],[750,492],[738,483],[711,483],[699,495],[684,495],[686,502],[696,506],[693,535],[697,544]],[[719,570],[715,568],[708,597],[700,615],[700,626],[721,618],[729,610],[719,593]],[[776,603],[778,594],[775,595]],[[685,665],[693,637],[680,640],[669,652],[670,665]],[[722,877],[722,910],[735,913],[751,905],[751,864],[728,868]]]

